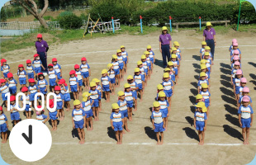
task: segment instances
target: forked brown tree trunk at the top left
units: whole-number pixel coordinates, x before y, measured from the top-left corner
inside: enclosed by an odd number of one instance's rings
[[[44,0],[44,1],[45,1],[45,7],[42,9],[41,12],[38,12],[37,5],[34,0],[16,0],[15,2],[18,2],[22,7],[24,7],[26,9],[27,12],[30,12],[33,16],[35,16],[35,18],[38,21],[40,21],[40,24],[42,26],[44,26],[46,29],[48,29],[49,26],[47,25],[43,16],[44,16],[45,12],[47,11],[47,8],[49,6],[49,1],[48,0]]]

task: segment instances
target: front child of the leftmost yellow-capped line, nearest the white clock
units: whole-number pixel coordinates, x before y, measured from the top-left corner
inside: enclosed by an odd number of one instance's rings
[[[79,136],[79,144],[84,144],[84,127],[85,127],[85,120],[86,120],[86,114],[81,108],[81,102],[79,100],[73,101],[74,109],[72,111],[72,125],[73,129],[78,130],[78,136]]]

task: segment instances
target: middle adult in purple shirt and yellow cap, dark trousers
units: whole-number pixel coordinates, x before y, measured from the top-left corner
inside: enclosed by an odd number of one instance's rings
[[[159,36],[159,50],[162,53],[164,68],[167,67],[167,60],[170,61],[170,48],[172,47],[172,37],[168,34],[167,27],[162,27],[162,35]]]

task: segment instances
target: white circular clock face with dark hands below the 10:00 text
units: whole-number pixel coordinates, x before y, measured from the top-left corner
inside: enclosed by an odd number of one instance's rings
[[[22,120],[11,131],[9,144],[17,158],[35,162],[44,158],[52,143],[50,130],[41,121]]]

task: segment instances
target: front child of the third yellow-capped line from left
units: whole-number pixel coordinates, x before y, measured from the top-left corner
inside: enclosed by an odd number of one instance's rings
[[[159,101],[154,101],[153,103],[154,111],[152,111],[151,121],[153,125],[153,130],[156,133],[156,138],[158,140],[157,145],[164,144],[164,130],[165,130],[165,120],[164,112],[160,110]],[[161,134],[161,140],[160,140]]]

